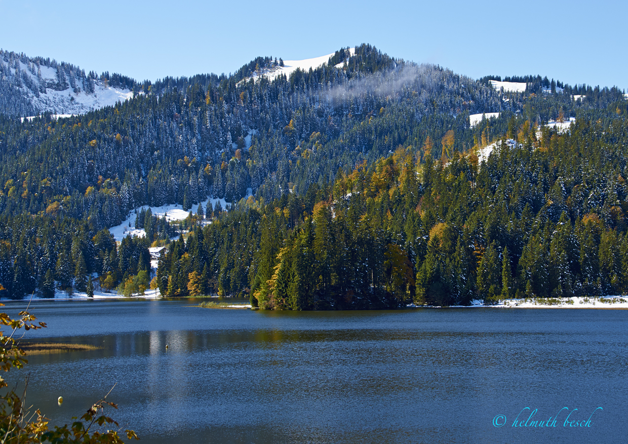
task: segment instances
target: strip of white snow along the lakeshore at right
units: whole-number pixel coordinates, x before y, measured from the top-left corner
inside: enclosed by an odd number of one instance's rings
[[[420,305],[409,304],[409,308]],[[602,298],[538,298],[538,299],[507,299],[497,305],[484,305],[482,300],[474,300],[471,305],[458,307],[493,307],[493,308],[607,308],[628,309],[628,296],[605,296]],[[452,307],[453,308],[453,307]]]

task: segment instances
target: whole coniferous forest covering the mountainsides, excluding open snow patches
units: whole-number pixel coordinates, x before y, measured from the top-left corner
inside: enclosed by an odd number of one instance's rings
[[[115,83],[133,98],[55,119],[20,95],[36,89],[20,67],[40,65],[58,82]],[[371,45],[261,75],[281,65],[260,57],[233,75],[141,83],[0,53],[1,295],[89,293],[92,281],[143,291],[158,245],[162,295],[246,295],[260,308],[628,291],[619,89],[530,75],[504,79],[525,92],[504,92],[489,82],[500,77]],[[471,126],[484,112],[500,114]],[[546,126],[569,117],[568,129]],[[208,197],[229,211],[178,226],[142,212],[147,236],[120,244],[107,230],[142,206],[189,210]]]

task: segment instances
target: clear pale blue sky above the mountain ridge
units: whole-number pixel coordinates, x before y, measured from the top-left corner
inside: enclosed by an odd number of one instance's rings
[[[156,80],[366,42],[474,78],[533,73],[628,89],[628,3],[517,3],[0,0],[0,47]]]

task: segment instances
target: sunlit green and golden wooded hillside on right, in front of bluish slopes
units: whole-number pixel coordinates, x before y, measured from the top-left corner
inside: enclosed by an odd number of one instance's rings
[[[160,289],[293,310],[628,291],[625,117],[511,128],[517,142],[482,165],[399,147],[302,197],[236,208],[171,247]]]

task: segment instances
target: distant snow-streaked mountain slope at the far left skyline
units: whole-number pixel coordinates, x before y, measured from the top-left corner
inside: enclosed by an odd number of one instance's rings
[[[133,97],[134,80],[0,50],[0,109],[9,116],[84,114]]]

